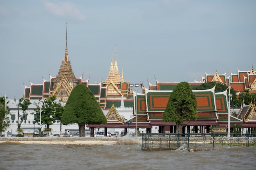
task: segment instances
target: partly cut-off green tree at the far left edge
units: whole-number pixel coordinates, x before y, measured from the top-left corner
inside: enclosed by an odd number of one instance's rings
[[[8,104],[8,102],[9,101],[7,101],[6,104]],[[11,115],[11,113],[7,105],[5,109],[5,97],[0,97],[0,132],[6,130],[6,128],[10,126],[9,115]]]

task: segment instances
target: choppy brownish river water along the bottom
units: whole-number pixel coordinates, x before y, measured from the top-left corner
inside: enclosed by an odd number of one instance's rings
[[[256,147],[143,151],[140,144],[0,144],[0,170],[255,170]]]

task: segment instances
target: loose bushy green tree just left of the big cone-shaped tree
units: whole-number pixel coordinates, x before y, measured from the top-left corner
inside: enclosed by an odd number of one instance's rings
[[[40,113],[41,113],[41,122],[45,124],[47,129],[50,128],[50,125],[56,122],[58,115],[61,114],[63,106],[60,102],[56,102],[56,96],[51,96],[47,99],[39,100],[38,103],[34,102],[36,108],[36,122],[40,122]]]

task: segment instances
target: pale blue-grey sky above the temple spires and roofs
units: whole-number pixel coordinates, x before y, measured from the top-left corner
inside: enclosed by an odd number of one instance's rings
[[[120,75],[146,88],[250,71],[255,9],[255,0],[1,0],[0,96],[19,99],[23,84],[56,77],[66,26],[72,70],[89,84],[108,77],[115,44]]]

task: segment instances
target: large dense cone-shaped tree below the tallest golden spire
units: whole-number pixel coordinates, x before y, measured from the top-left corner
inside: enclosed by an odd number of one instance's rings
[[[107,119],[97,99],[84,84],[76,85],[67,100],[62,123],[78,124],[79,136],[85,136],[85,124],[106,124]]]

